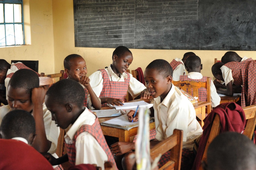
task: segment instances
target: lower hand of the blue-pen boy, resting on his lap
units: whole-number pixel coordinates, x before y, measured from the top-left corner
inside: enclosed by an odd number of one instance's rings
[[[116,142],[112,144],[111,151],[116,155],[122,155],[134,149],[134,143],[130,142]]]

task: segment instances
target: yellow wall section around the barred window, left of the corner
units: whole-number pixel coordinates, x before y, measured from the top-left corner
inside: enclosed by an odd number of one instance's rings
[[[24,0],[24,25],[26,41],[31,45],[2,47],[1,58],[11,60],[39,60],[38,72],[54,72],[52,0]]]

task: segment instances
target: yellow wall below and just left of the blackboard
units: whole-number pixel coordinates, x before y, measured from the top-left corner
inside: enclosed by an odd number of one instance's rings
[[[74,14],[72,0],[53,0],[53,33],[54,33],[54,56],[55,72],[63,69],[63,60],[69,54],[79,54],[86,60],[88,69],[87,75],[102,69],[112,63],[113,48],[81,48],[75,47],[74,38]],[[187,50],[146,50],[130,49],[133,54],[133,62],[129,69],[141,67],[143,70],[154,59],[172,59],[182,58]],[[201,58],[203,64],[202,74],[213,77],[211,66],[214,64],[214,58],[219,60],[226,51],[192,51]],[[238,55],[252,57],[256,59],[255,51],[236,51]]]

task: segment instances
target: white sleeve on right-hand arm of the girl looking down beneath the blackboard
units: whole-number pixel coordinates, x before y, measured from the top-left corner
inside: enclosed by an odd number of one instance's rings
[[[143,85],[141,82],[139,82],[137,79],[132,77],[132,74],[130,74],[130,82],[128,86],[128,92],[132,95],[133,98],[140,95],[140,93],[146,89],[146,86]]]

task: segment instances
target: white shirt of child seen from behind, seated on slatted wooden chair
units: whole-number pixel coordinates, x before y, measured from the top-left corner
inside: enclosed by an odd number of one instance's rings
[[[188,78],[190,78],[190,79],[202,79],[203,75],[199,72],[189,72],[188,73]],[[216,91],[216,87],[215,87],[212,80],[211,80],[210,89],[211,89],[211,106],[216,107],[220,103],[220,97],[219,97],[219,95]]]

